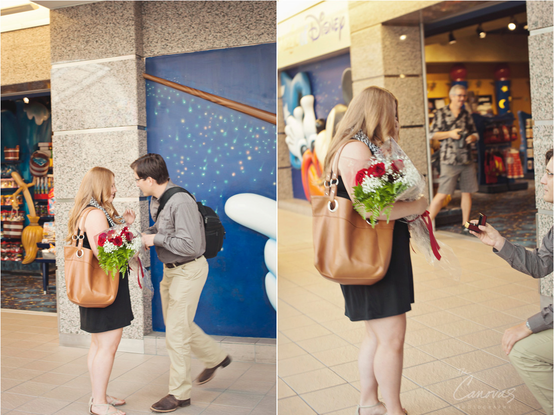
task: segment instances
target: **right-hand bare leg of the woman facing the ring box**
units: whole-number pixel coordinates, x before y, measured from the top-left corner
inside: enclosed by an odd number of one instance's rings
[[[406,334],[406,314],[382,319],[368,320],[376,336],[377,347],[373,360],[373,372],[384,402],[387,415],[404,415],[400,403],[400,383],[404,357],[404,335]],[[360,411],[361,415],[365,412]],[[371,412],[367,412],[370,414]]]

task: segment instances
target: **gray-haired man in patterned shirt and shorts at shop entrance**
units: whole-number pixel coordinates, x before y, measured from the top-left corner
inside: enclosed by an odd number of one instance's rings
[[[471,193],[479,190],[475,163],[471,158],[471,143],[478,140],[477,131],[471,114],[464,108],[468,98],[466,89],[461,85],[450,88],[450,104],[435,112],[430,128],[432,136],[440,142],[440,177],[437,194],[428,207],[429,216],[435,219],[444,200],[454,193],[456,181],[460,178],[461,224],[469,221],[471,211]],[[465,133],[460,135],[460,133]],[[460,139],[464,139],[461,143]],[[465,227],[464,227],[464,230]]]

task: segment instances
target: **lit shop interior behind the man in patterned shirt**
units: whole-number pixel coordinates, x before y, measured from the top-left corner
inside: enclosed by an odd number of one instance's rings
[[[489,8],[425,25],[429,123],[436,110],[449,105],[450,87],[465,86],[465,108],[479,133],[479,141],[471,145],[479,191],[473,194],[470,217],[485,212],[494,226],[509,223],[517,229],[512,237],[534,247],[534,163],[543,163],[543,154],[535,158],[533,147],[526,4],[511,3],[507,9]],[[440,144],[433,140],[430,147],[436,193]],[[435,226],[461,233],[459,185],[456,189]]]

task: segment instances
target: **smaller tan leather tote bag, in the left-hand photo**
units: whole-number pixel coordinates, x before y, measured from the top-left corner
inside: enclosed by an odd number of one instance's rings
[[[83,223],[95,207],[87,207],[75,226],[71,245],[64,246],[65,287],[71,303],[81,307],[104,308],[114,302],[119,287],[119,272],[107,275],[92,250],[83,248]],[[79,235],[77,231],[80,229]]]

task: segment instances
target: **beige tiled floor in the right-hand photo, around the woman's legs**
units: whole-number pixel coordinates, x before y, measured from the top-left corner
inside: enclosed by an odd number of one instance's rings
[[[344,316],[340,287],[313,266],[311,217],[282,209],[278,217],[278,413],[354,415],[363,323]],[[403,406],[410,415],[540,415],[500,347],[506,328],[540,309],[537,280],[469,237],[438,238],[463,272],[456,282],[412,255]]]

